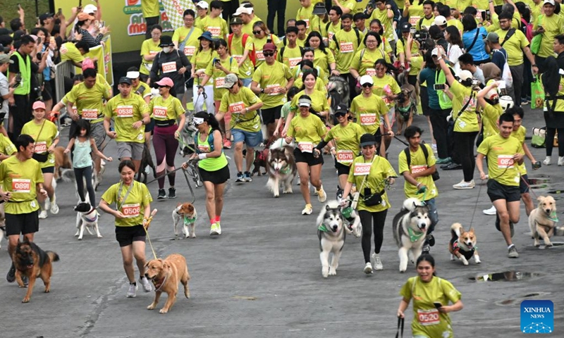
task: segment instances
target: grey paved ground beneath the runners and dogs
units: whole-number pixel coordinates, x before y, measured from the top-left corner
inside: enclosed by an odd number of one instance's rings
[[[423,118],[415,123],[427,128]],[[527,127],[544,125],[540,113],[525,117]],[[63,132],[66,134],[66,132]],[[429,141],[429,133],[424,134]],[[63,139],[63,144],[67,140]],[[403,144],[393,142],[391,162],[397,168],[397,154]],[[108,155],[116,156],[115,144]],[[533,149],[537,159],[544,149]],[[556,151],[555,151],[556,153]],[[228,151],[231,154],[231,151]],[[177,163],[180,160],[177,159]],[[324,187],[333,195],[335,172],[326,158],[323,168]],[[99,189],[98,197],[117,182],[116,163],[111,163]],[[230,164],[234,177],[235,166]],[[530,163],[527,163],[530,168]],[[551,165],[533,173],[547,175],[548,183],[535,194],[562,189],[562,167]],[[476,173],[474,177],[477,177]],[[436,228],[437,244],[431,250],[437,261],[437,273],[462,292],[465,308],[452,314],[457,337],[515,337],[520,330],[520,302],[524,299],[550,299],[554,302],[555,322],[564,323],[563,285],[564,248],[536,249],[528,232],[525,209],[516,225],[515,243],[520,258],[510,260],[507,249],[494,228],[494,217],[482,214],[491,205],[486,187],[455,191],[462,172],[441,172],[437,201],[440,223]],[[121,265],[113,220],[102,215],[104,238],[85,234],[79,242],[75,233],[73,185],[59,184],[59,215],[41,221],[36,242],[42,249],[59,253],[54,263],[51,293],[42,293],[38,282],[32,301],[20,303],[25,290],[4,281],[9,259],[6,242],[0,251],[0,317],[2,337],[393,337],[396,330],[398,291],[407,277],[415,275],[409,265],[407,273],[398,272],[398,254],[391,233],[391,219],[403,201],[403,180],[391,191],[393,205],[386,222],[385,242],[381,255],[384,270],[367,277],[360,239],[348,237],[338,275],[321,277],[316,218],[320,204],[314,198],[314,215],[302,216],[303,203],[299,187],[294,195],[273,199],[264,187],[266,177],[255,177],[245,184],[228,185],[220,237],[209,237],[209,220],[205,215],[203,189],[196,190],[197,239],[173,241],[171,211],[180,201],[190,199],[183,177],[178,179],[176,201],[154,201],[159,213],[152,223],[151,235],[157,256],[182,253],[190,268],[192,298],[179,295],[167,315],[147,311],[154,293],[137,292],[137,298],[126,299],[126,279]],[[154,196],[157,184],[149,185]],[[555,196],[559,197],[559,194]],[[564,210],[563,199],[557,201]],[[479,238],[482,264],[465,267],[449,261],[447,249],[453,222],[473,225]],[[563,237],[554,239],[564,242]],[[147,247],[147,257],[152,253]],[[513,282],[475,282],[472,277],[488,273],[514,271]],[[534,273],[528,278],[527,273]],[[166,298],[164,296],[164,298]],[[161,299],[162,306],[163,300]],[[411,307],[406,312],[412,318]],[[17,319],[16,319],[17,318]],[[16,319],[16,320],[15,320]],[[410,337],[406,325],[406,337]],[[556,325],[554,337],[563,337],[562,325]]]

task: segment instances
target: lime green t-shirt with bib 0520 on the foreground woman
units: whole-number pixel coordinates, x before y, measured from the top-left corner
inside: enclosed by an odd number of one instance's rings
[[[448,280],[433,277],[430,282],[423,282],[419,276],[410,277],[400,290],[403,299],[413,299],[413,320],[411,330],[414,336],[453,337],[448,313],[440,313],[434,306],[439,302],[443,306],[456,303],[462,294]]]

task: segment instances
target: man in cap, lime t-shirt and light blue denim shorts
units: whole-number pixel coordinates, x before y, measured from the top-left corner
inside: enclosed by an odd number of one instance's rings
[[[231,113],[231,134],[235,143],[235,167],[237,167],[237,180],[235,182],[251,182],[251,165],[255,161],[255,147],[264,140],[260,130],[260,116],[258,110],[262,101],[247,87],[237,75],[228,74],[225,77],[223,88],[227,93],[221,98],[219,113],[216,119],[222,120],[226,113]],[[227,123],[227,121],[226,121]],[[243,142],[247,146],[246,170],[243,173]]]

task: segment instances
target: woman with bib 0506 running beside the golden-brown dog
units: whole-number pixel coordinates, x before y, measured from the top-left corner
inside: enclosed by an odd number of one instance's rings
[[[129,280],[128,298],[137,291],[133,258],[139,269],[139,282],[145,292],[151,292],[151,284],[145,277],[145,236],[151,217],[151,193],[147,186],[133,180],[135,165],[132,161],[121,161],[118,166],[121,181],[109,187],[102,195],[100,209],[116,218],[116,239],[121,248],[121,259],[125,275]],[[116,209],[111,204],[116,204]]]

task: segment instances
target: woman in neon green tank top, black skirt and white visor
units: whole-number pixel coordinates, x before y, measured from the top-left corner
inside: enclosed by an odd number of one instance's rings
[[[194,114],[194,123],[198,129],[194,137],[198,158],[198,172],[206,189],[206,211],[211,223],[210,235],[221,234],[221,211],[223,209],[223,189],[229,180],[229,166],[225,153],[219,123],[214,115],[199,111]],[[188,162],[182,168],[188,168]]]

